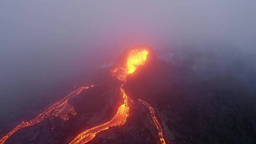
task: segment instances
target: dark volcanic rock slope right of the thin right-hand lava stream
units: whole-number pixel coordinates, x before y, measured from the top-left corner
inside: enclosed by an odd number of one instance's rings
[[[255,144],[256,111],[243,103],[246,89],[228,77],[191,78],[160,65],[128,81],[125,90],[157,109],[171,144]]]

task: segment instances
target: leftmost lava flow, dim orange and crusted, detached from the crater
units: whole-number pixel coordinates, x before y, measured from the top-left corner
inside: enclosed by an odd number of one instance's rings
[[[91,86],[93,87],[93,85]],[[71,93],[69,93],[64,99],[56,102],[51,107],[47,108],[43,113],[39,114],[36,118],[28,121],[22,122],[18,126],[16,126],[13,130],[11,130],[7,135],[0,139],[0,144],[3,144],[13,133],[18,131],[19,129],[27,126],[35,125],[48,117],[61,117],[63,120],[68,120],[68,114],[71,113],[73,116],[76,115],[74,111],[74,107],[68,104],[68,100],[78,95],[82,90],[89,89],[90,87],[80,87]]]

